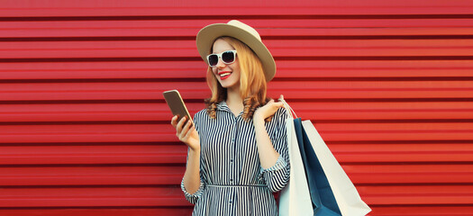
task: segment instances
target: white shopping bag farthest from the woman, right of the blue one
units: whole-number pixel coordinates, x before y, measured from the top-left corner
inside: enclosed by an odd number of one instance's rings
[[[315,129],[314,124],[307,120],[303,121],[302,125],[332,188],[341,215],[366,215],[371,209],[361,200],[357,189],[351,183],[350,178],[343,171],[337,159],[332,155],[319,132]]]

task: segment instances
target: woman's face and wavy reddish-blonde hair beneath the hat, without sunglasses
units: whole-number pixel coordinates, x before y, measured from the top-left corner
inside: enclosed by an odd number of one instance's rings
[[[213,54],[221,54],[223,51],[238,51],[235,61],[230,65],[225,65],[219,59],[216,67],[207,67],[207,85],[212,91],[212,96],[205,100],[207,113],[213,119],[215,115],[215,104],[228,99],[228,94],[240,92],[241,100],[247,112],[243,112],[243,119],[250,120],[254,110],[259,105],[265,105],[268,101],[266,97],[267,81],[261,64],[261,60],[241,40],[223,36],[214,41],[210,50]],[[227,72],[230,76],[221,77],[218,74]]]

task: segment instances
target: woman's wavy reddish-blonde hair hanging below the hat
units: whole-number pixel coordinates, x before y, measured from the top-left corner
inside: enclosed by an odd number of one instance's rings
[[[250,121],[253,113],[261,105],[268,103],[269,98],[266,97],[266,77],[263,67],[258,56],[246,44],[232,37],[220,37],[216,40],[225,40],[234,49],[237,50],[238,64],[240,65],[240,95],[243,101],[243,119]],[[210,53],[212,53],[212,48]],[[207,85],[212,91],[212,96],[205,99],[207,105],[207,113],[213,119],[216,118],[216,103],[226,100],[227,89],[223,88],[212,72],[212,67],[207,68]],[[270,121],[268,118],[266,121]]]

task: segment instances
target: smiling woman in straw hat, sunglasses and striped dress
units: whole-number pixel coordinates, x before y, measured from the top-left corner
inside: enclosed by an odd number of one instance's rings
[[[171,120],[188,146],[181,188],[193,215],[277,215],[272,193],[287,184],[289,158],[287,112],[266,97],[274,58],[238,21],[206,26],[196,43],[212,96],[194,124]]]

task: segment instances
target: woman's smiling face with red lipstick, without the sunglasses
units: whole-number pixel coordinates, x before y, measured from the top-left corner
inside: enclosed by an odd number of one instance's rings
[[[215,40],[212,53],[222,53],[227,50],[235,50],[230,43],[225,40]],[[227,65],[219,58],[215,67],[212,67],[212,72],[220,85],[224,88],[240,88],[240,63],[238,61],[238,54],[235,61]]]

